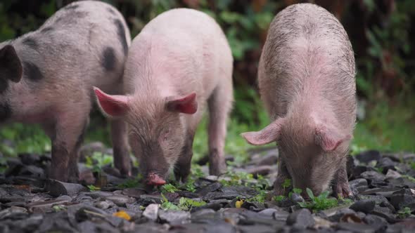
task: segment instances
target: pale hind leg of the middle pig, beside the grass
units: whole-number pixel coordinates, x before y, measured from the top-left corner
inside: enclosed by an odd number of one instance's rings
[[[226,120],[232,105],[232,88],[217,86],[208,100],[209,106],[209,174],[220,175],[226,172],[224,145],[226,138]]]

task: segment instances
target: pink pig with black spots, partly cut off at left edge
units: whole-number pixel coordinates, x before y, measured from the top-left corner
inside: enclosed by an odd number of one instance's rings
[[[50,178],[78,179],[77,154],[93,86],[122,93],[129,29],[113,6],[79,1],[34,32],[0,44],[0,124],[40,124],[52,141]],[[112,126],[115,166],[129,173],[127,131]]]

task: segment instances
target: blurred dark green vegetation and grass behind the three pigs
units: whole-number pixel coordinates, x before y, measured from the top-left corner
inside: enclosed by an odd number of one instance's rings
[[[69,0],[2,0],[0,41],[37,29]],[[212,15],[231,45],[234,62],[235,105],[229,122],[226,150],[243,154],[249,147],[239,133],[268,123],[256,86],[257,62],[274,15],[290,4],[312,2],[324,6],[343,23],[357,61],[359,121],[352,153],[362,149],[415,152],[415,1],[412,0],[107,0],[125,16],[136,36],[156,15],[170,8],[196,8]],[[109,144],[108,125],[94,110],[87,141]],[[205,120],[195,140],[195,154],[205,152]],[[0,130],[3,154],[44,152],[49,139],[36,126],[13,124]]]

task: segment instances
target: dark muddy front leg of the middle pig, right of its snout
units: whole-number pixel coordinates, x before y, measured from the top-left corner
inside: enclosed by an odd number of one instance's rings
[[[181,155],[174,165],[174,177],[177,181],[186,182],[190,174],[191,158],[193,157],[194,133],[189,133],[181,151]]]

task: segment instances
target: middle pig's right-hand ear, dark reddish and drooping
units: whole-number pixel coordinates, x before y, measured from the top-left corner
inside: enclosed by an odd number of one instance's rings
[[[170,112],[181,112],[186,114],[194,114],[198,111],[198,102],[196,101],[196,93],[191,93],[185,97],[167,98],[167,110]]]

